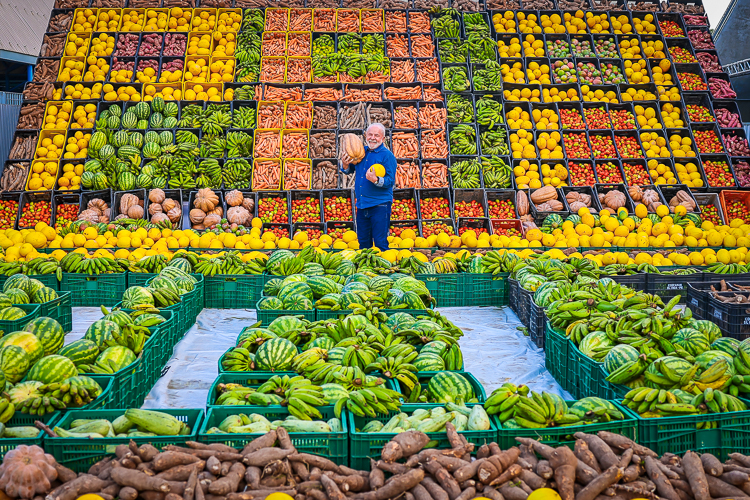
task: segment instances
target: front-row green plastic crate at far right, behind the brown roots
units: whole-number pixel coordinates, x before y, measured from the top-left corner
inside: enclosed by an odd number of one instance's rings
[[[750,406],[750,401],[743,400]],[[730,453],[750,453],[750,410],[684,417],[638,418],[638,443],[659,455],[682,455],[688,450],[711,453],[727,460]],[[715,429],[698,429],[699,422]]]

